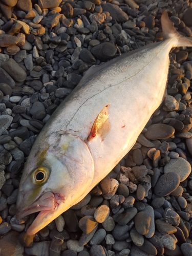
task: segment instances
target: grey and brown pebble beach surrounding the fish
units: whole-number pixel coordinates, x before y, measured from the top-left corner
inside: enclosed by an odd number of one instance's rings
[[[108,176],[34,236],[36,213],[16,219],[50,116],[91,66],[163,40],[163,10],[192,37],[189,0],[0,1],[0,256],[192,255],[190,47],[170,51],[165,98]]]

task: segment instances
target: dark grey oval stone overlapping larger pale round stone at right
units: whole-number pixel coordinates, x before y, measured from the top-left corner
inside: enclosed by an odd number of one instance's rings
[[[157,181],[154,192],[158,197],[165,197],[172,193],[180,183],[180,176],[176,173],[163,174]]]

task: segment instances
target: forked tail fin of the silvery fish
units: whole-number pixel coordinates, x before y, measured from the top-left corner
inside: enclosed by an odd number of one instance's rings
[[[180,35],[174,28],[173,23],[168,18],[166,11],[161,16],[161,26],[163,30],[163,38],[174,38],[175,43],[173,47],[177,46],[192,46],[192,38]]]

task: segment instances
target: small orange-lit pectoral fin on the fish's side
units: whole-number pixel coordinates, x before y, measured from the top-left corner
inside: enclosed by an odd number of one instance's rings
[[[96,136],[101,136],[103,140],[106,137],[106,135],[109,133],[110,131],[109,108],[110,108],[110,104],[104,106],[104,108],[98,114],[92,126],[90,135],[88,136],[88,141],[94,139]]]

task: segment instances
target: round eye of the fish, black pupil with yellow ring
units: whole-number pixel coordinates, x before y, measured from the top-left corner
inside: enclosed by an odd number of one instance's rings
[[[32,181],[35,185],[44,184],[49,178],[49,169],[45,166],[40,166],[32,173]]]

